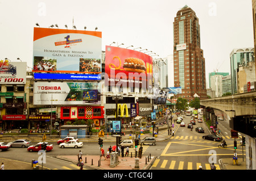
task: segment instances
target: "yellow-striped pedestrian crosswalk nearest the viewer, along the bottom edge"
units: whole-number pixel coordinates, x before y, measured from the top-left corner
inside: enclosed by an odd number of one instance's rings
[[[214,164],[216,170],[221,170],[220,165]],[[194,163],[194,162],[184,162],[184,161],[175,161],[168,159],[155,159],[155,162],[152,164],[152,170],[157,169],[167,169],[167,170],[197,170],[199,166],[203,166],[204,170],[210,170],[210,163]]]

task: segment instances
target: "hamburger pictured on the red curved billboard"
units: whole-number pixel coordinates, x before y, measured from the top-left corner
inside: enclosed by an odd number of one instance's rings
[[[125,71],[134,71],[138,73],[145,73],[145,62],[139,58],[126,58],[123,63],[123,69]]]

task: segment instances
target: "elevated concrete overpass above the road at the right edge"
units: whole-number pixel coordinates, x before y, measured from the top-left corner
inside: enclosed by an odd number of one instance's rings
[[[217,117],[229,120],[230,128],[256,137],[256,91],[200,100],[206,119],[217,128]]]

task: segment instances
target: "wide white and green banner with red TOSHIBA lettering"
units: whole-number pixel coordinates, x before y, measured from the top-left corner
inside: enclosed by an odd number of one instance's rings
[[[101,104],[100,92],[100,83],[35,82],[34,105]]]

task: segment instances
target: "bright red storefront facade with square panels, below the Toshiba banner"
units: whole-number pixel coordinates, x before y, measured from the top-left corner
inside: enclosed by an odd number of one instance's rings
[[[61,107],[60,119],[73,121],[75,119],[92,119],[93,127],[100,127],[105,124],[103,106],[64,106]]]

